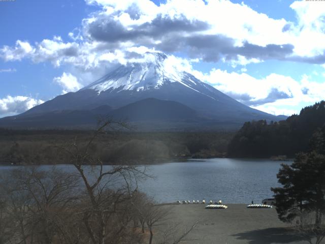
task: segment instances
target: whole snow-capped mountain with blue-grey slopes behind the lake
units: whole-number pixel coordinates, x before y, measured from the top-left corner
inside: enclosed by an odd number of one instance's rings
[[[127,119],[143,130],[236,129],[245,121],[283,119],[250,108],[174,67],[164,53],[120,65],[75,93],[0,119],[2,127],[93,127],[99,115]]]

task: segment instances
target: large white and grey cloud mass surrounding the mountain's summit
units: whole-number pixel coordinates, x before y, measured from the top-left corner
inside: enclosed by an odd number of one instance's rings
[[[226,0],[169,0],[159,6],[149,0],[86,3],[98,11],[84,18],[68,38],[54,36],[36,43],[17,40],[0,47],[0,57],[6,62],[30,59],[64,67],[61,77],[53,77],[62,93],[78,90],[116,64],[143,62],[146,51],[161,51],[171,55],[171,65],[266,112],[289,115],[298,112],[290,106],[314,103],[324,94],[325,84],[309,74],[300,80],[274,72],[256,78],[245,68],[267,60],[325,68],[325,8],[321,3],[291,4],[296,22],[274,19],[244,3]],[[203,72],[193,68],[197,62],[221,62],[238,71],[216,66]]]

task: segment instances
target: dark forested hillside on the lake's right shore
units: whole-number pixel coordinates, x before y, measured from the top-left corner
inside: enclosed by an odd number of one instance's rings
[[[325,124],[325,101],[305,107],[299,115],[267,123],[266,120],[246,122],[235,134],[228,148],[232,157],[294,157],[308,151],[312,135]]]

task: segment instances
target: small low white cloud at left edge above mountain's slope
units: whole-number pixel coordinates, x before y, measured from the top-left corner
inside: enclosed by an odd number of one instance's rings
[[[44,101],[40,99],[25,96],[12,97],[8,95],[0,99],[0,117],[22,113],[42,103]]]

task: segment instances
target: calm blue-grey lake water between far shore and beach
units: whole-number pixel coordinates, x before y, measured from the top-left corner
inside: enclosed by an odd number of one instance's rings
[[[225,203],[261,203],[279,186],[276,174],[281,163],[261,159],[206,159],[148,166],[150,178],[139,189],[157,202],[222,200]],[[42,166],[51,169],[52,166]],[[71,165],[59,165],[71,171]],[[5,172],[15,167],[1,166]]]

